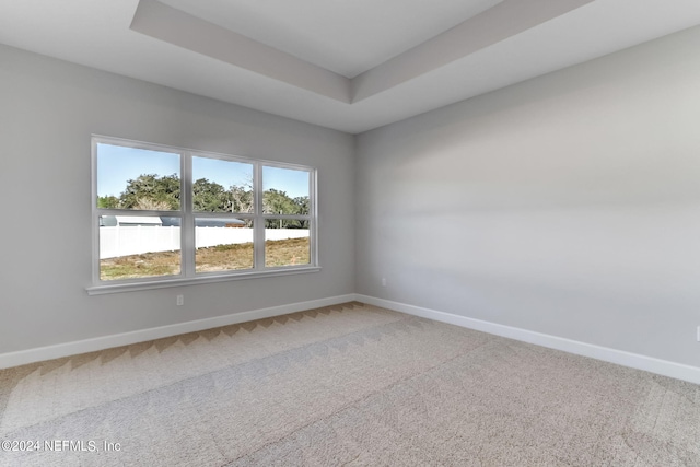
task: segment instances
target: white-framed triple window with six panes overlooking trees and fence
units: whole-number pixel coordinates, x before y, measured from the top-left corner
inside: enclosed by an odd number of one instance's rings
[[[318,270],[312,167],[93,137],[90,293]]]

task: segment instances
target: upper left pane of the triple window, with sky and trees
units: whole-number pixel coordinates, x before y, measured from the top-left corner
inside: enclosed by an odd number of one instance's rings
[[[97,207],[179,209],[179,154],[97,143]]]

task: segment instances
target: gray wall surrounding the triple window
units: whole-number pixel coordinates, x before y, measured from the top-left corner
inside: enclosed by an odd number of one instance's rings
[[[0,353],[354,291],[351,136],[5,46],[0,63]],[[317,167],[323,270],[88,296],[91,133]]]

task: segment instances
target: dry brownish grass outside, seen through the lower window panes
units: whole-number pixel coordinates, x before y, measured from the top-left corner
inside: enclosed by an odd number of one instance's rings
[[[288,238],[265,243],[267,267],[307,265],[308,238]],[[253,243],[197,248],[197,272],[229,271],[253,268]],[[174,276],[180,271],[179,252],[144,253],[100,261],[102,280]]]

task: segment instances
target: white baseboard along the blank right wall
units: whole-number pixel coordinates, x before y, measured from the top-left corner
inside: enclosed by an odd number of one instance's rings
[[[595,346],[593,343],[581,342],[541,332],[535,332],[527,329],[521,329],[480,319],[468,318],[465,316],[453,315],[451,313],[438,312],[435,310],[423,308],[420,306],[407,305],[405,303],[392,302],[389,300],[376,299],[374,296],[355,294],[354,300],[370,305],[395,310],[397,312],[406,313],[409,315],[434,319],[442,323],[448,323],[469,329],[508,337],[510,339],[515,339],[523,342],[535,343],[537,346],[548,347],[556,350],[562,350],[564,352],[574,353],[576,355],[590,357],[592,359],[616,363],[622,366],[629,366],[637,370],[643,370],[651,373],[700,384],[700,367],[697,366],[669,362],[667,360],[640,355],[638,353]]]

